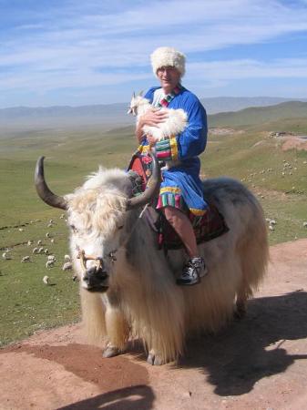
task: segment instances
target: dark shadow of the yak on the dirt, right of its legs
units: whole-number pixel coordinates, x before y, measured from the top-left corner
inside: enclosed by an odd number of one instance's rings
[[[286,350],[287,341],[306,337],[307,292],[254,299],[240,322],[218,335],[189,340],[179,367],[203,369],[217,395],[243,395],[261,378],[307,359]]]

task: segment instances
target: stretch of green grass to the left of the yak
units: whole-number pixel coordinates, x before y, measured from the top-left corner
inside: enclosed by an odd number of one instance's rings
[[[14,138],[14,146],[11,136],[0,139],[0,249],[1,255],[11,249],[12,258],[0,259],[0,345],[79,319],[77,282],[71,272],[61,270],[69,253],[67,226],[59,218],[62,212],[47,207],[36,195],[36,159],[46,155],[46,180],[63,195],[81,185],[100,164],[125,167],[135,149],[131,129],[104,135],[97,129],[84,132],[27,132]],[[53,228],[47,228],[50,219],[56,222]],[[46,238],[47,231],[54,244]],[[30,247],[28,240],[34,241]],[[46,270],[46,255],[32,254],[38,240],[56,255],[55,268]],[[26,255],[31,262],[21,263]],[[43,283],[45,275],[52,286]]]

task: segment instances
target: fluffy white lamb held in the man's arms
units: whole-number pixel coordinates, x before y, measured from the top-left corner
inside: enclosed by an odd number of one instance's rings
[[[147,98],[142,97],[140,94],[138,96],[135,96],[134,94],[131,98],[128,114],[137,116],[138,124],[139,118],[152,108],[153,106]],[[176,136],[187,127],[188,116],[183,109],[160,108],[160,110],[162,112],[166,112],[168,114],[168,118],[166,118],[163,122],[160,122],[157,127],[144,126],[142,128],[144,134],[151,135],[160,141],[164,138]],[[174,161],[167,162],[168,168],[174,165],[176,165]]]

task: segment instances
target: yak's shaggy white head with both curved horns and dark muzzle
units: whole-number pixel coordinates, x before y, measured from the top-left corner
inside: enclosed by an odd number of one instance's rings
[[[70,248],[81,286],[89,292],[106,292],[117,261],[131,233],[131,219],[159,190],[160,172],[152,157],[148,188],[132,196],[138,175],[120,169],[99,169],[84,185],[64,197],[47,187],[44,157],[37,160],[35,184],[38,196],[48,205],[67,210]],[[131,212],[133,210],[133,212]]]

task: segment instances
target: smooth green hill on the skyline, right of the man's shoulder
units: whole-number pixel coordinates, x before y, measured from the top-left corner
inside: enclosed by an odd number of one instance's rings
[[[307,118],[307,102],[287,101],[275,106],[245,108],[210,116],[210,127],[242,127],[285,118]]]

